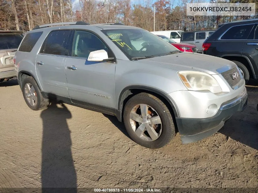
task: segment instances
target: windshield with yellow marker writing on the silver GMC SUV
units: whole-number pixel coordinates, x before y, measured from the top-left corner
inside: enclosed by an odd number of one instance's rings
[[[143,29],[109,29],[102,32],[129,59],[156,57],[178,51],[173,45]]]

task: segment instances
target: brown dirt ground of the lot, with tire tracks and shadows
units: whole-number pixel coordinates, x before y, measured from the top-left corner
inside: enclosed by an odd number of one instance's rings
[[[0,188],[257,188],[258,88],[216,134],[158,150],[136,145],[115,117],[71,105],[33,111],[0,84]],[[0,191],[1,192],[1,191]]]

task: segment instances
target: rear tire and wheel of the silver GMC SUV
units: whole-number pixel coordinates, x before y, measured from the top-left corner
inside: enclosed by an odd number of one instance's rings
[[[32,110],[46,109],[49,105],[49,100],[42,96],[33,77],[27,77],[22,81],[22,94],[26,104]]]

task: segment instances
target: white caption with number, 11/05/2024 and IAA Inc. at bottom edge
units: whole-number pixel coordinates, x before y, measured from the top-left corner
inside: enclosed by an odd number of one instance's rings
[[[157,188],[94,188],[94,192],[161,192]]]

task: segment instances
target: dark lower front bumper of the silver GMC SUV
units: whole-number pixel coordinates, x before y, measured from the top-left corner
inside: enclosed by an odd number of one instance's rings
[[[237,98],[223,103],[219,111],[212,117],[192,119],[176,117],[176,124],[183,144],[199,141],[223,127],[235,112],[243,111],[247,105],[247,93],[241,93]]]

